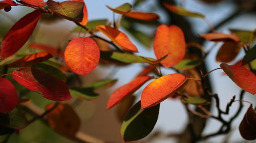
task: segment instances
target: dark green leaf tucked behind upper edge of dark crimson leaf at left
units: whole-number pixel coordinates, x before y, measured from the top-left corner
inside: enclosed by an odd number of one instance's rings
[[[48,65],[45,63],[40,63],[37,65],[33,65],[32,67],[36,68],[38,70],[41,70],[41,71],[45,71],[46,73],[51,74],[52,76],[60,79],[63,82],[67,81],[67,76],[66,76],[65,72],[63,72],[62,70],[60,70],[54,66],[51,66],[51,65]]]

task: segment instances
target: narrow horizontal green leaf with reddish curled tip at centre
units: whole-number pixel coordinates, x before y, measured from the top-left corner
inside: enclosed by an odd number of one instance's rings
[[[167,55],[163,56],[159,60],[155,60],[153,58],[145,58],[143,56],[138,56],[130,53],[113,52],[111,58],[124,63],[158,64],[159,62],[163,61],[166,56]]]

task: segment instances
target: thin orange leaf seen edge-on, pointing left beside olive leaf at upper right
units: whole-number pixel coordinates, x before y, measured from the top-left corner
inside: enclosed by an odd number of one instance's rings
[[[239,42],[240,38],[233,34],[224,34],[224,33],[208,33],[208,34],[200,34],[200,37],[208,40],[208,41],[234,41]]]

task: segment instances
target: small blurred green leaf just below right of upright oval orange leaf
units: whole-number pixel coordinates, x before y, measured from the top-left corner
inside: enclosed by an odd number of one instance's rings
[[[197,67],[201,64],[201,60],[199,58],[195,59],[184,59],[180,63],[174,66],[177,70],[188,70]]]

